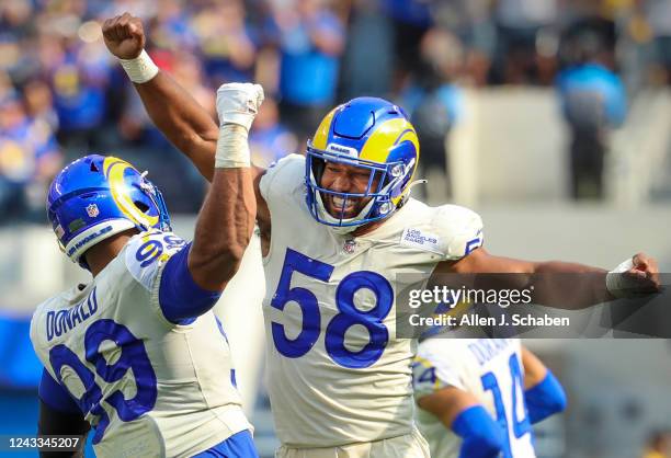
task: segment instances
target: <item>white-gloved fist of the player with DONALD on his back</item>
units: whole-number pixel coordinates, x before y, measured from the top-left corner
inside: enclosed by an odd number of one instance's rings
[[[217,90],[217,114],[219,126],[237,124],[249,131],[259,107],[263,103],[261,84],[229,82]]]

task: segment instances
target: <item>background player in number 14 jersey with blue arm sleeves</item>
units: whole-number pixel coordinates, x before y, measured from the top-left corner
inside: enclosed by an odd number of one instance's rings
[[[531,425],[566,408],[559,381],[519,339],[427,339],[412,385],[433,458],[533,458]]]

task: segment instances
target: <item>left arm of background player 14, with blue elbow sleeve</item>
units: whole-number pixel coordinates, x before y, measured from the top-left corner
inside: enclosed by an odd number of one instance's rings
[[[469,392],[447,387],[417,402],[420,409],[434,414],[445,427],[462,437],[459,458],[493,458],[501,453],[501,427]]]

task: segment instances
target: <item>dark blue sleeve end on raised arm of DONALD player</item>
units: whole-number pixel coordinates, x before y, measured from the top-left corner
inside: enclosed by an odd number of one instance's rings
[[[166,266],[159,286],[159,304],[168,321],[189,324],[219,300],[221,293],[208,291],[193,280],[189,272],[191,243],[173,254]]]

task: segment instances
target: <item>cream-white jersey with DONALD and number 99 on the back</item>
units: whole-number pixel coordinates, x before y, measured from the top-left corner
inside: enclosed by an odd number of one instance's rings
[[[161,277],[184,247],[170,232],[135,236],[86,288],[35,311],[35,352],[93,425],[99,457],[193,456],[250,427],[214,313],[174,319],[179,278]]]

